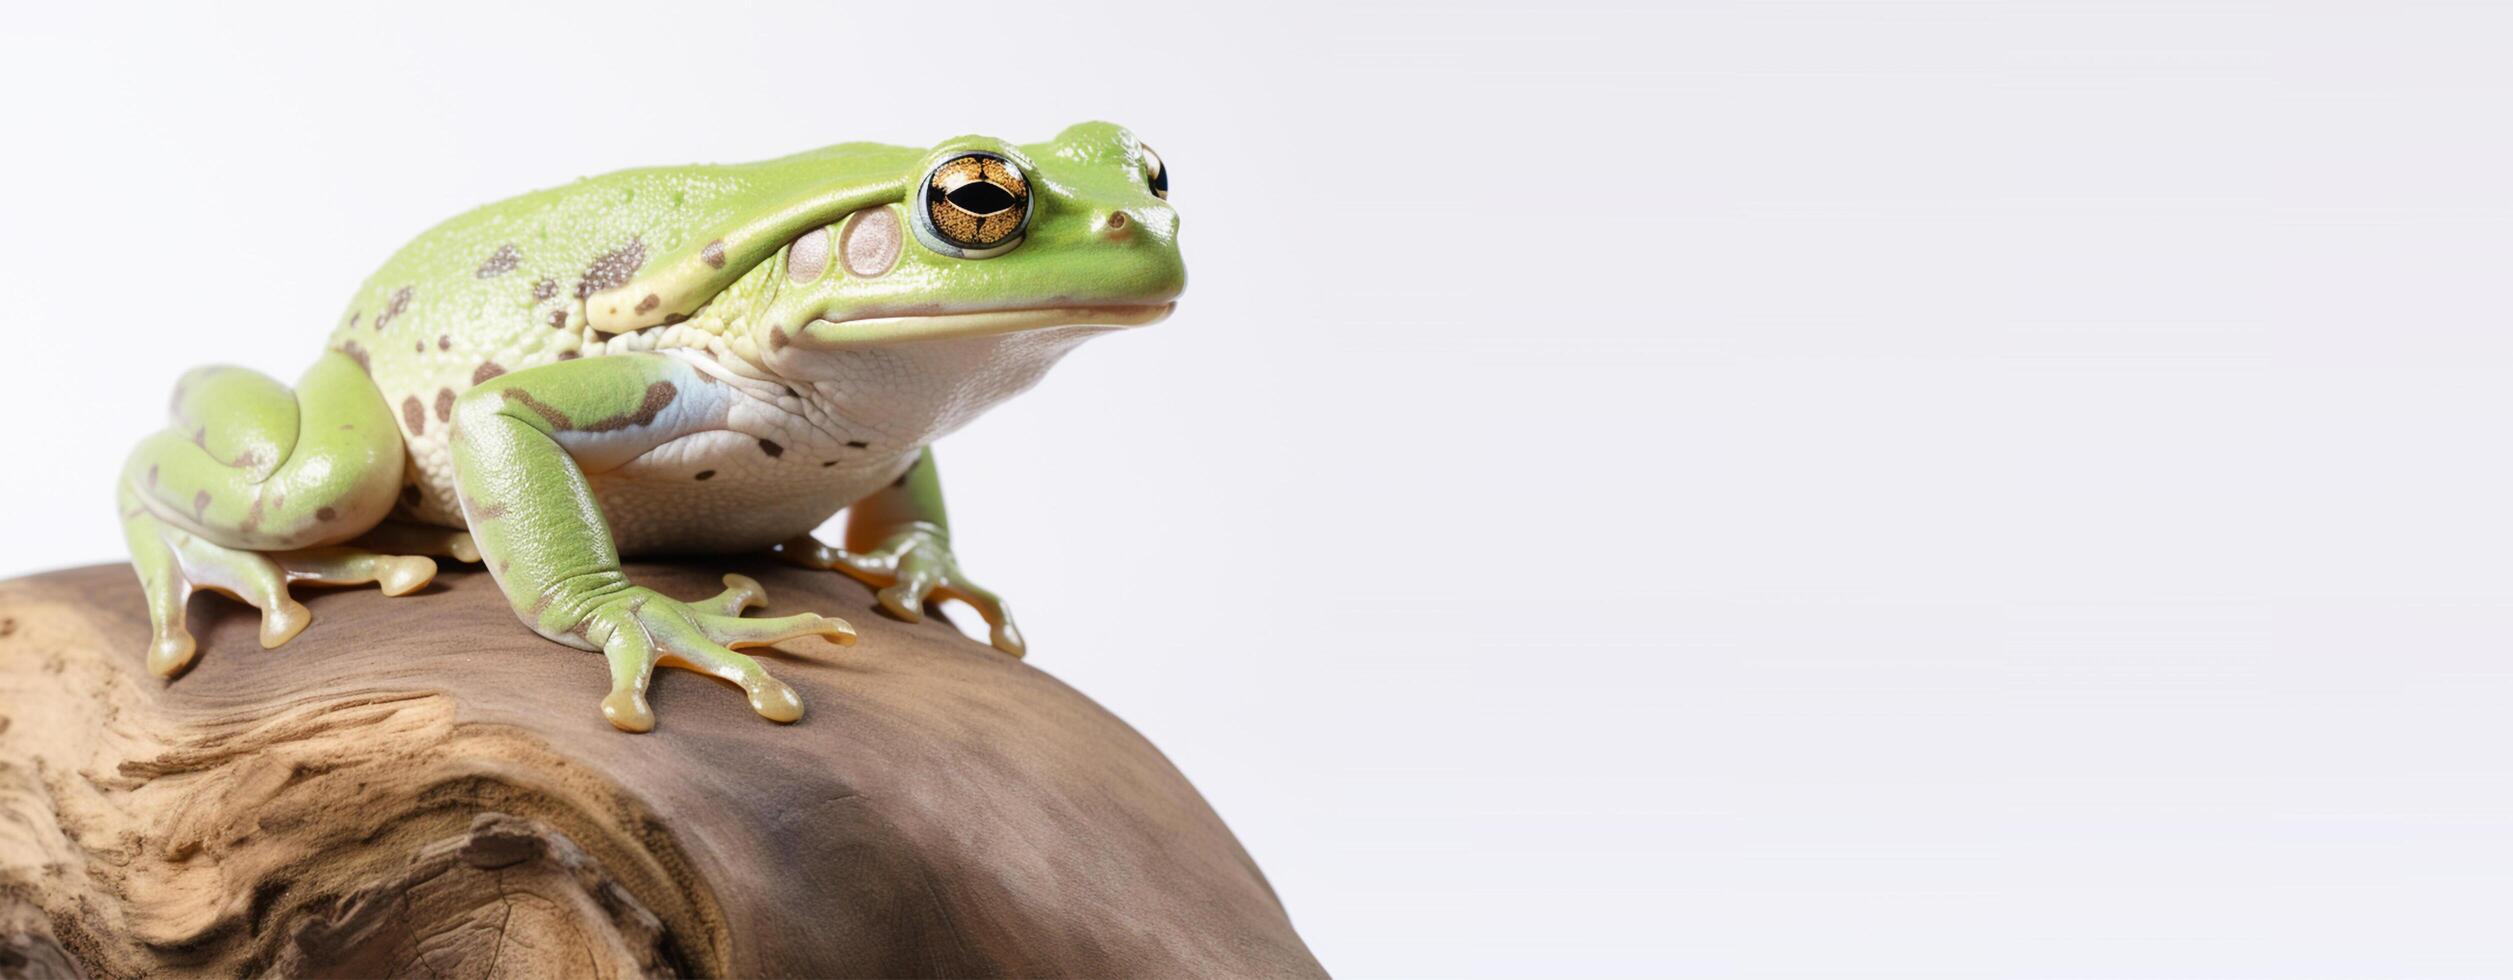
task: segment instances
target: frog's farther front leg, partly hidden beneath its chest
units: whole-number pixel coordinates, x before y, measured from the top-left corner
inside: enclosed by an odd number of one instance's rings
[[[960,573],[942,513],[942,475],[925,447],[897,482],[847,508],[847,548],[812,535],[777,545],[777,555],[804,568],[834,568],[880,588],[882,608],[910,623],[925,621],[925,598],[957,598],[978,608],[998,651],[1023,656],[1028,643],[1013,611],[985,585]]]

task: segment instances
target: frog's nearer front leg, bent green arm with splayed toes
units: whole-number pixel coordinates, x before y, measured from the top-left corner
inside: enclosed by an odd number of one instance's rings
[[[827,616],[741,618],[761,598],[741,575],[726,575],[711,601],[684,603],[621,573],[586,472],[724,427],[729,397],[679,357],[623,354],[513,372],[455,400],[455,487],[480,555],[535,633],[611,661],[603,716],[623,731],[653,729],[646,683],[656,666],[739,683],[764,719],[802,719],[794,689],[734,648],[854,641],[854,628]]]

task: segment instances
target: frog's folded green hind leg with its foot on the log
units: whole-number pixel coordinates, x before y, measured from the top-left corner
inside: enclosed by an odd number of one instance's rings
[[[349,357],[324,354],[294,392],[236,367],[183,374],[173,427],[141,440],[118,495],[148,593],[148,668],[191,663],[183,603],[201,588],[259,608],[271,648],[312,621],[289,583],[379,583],[387,596],[425,585],[427,558],[339,548],[392,510],[400,480],[402,432]]]

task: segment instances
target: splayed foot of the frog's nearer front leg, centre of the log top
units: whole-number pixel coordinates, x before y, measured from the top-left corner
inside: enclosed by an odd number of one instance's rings
[[[603,719],[621,731],[653,731],[653,706],[646,704],[646,686],[656,666],[679,666],[741,686],[751,699],[751,711],[769,721],[802,719],[802,699],[792,686],[769,676],[759,661],[734,653],[746,646],[784,643],[802,636],[822,636],[834,643],[854,643],[854,626],[842,618],[797,613],[774,618],[741,618],[741,611],[766,603],[766,591],[746,575],[724,575],[724,593],[694,603],[628,588],[611,596],[583,621],[583,638],[611,661],[611,696],[603,699]]]

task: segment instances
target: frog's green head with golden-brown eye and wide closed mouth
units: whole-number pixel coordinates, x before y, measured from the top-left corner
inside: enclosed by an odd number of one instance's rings
[[[1169,317],[1186,286],[1169,173],[1133,133],[1083,123],[1048,143],[962,136],[869,206],[761,261],[751,319],[771,359]]]

